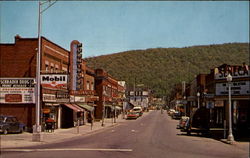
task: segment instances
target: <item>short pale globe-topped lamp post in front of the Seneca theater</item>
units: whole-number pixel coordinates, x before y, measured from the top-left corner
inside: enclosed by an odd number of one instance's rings
[[[230,74],[227,75],[227,82],[228,82],[228,102],[229,102],[229,133],[227,137],[227,141],[229,143],[232,143],[234,141],[234,136],[232,132],[232,106],[231,106],[231,82],[233,80],[232,76]]]

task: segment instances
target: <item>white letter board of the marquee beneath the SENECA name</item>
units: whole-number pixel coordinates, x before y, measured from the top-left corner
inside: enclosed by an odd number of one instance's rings
[[[232,95],[250,95],[250,81],[238,81],[231,83]],[[228,83],[216,83],[216,95],[228,95]]]

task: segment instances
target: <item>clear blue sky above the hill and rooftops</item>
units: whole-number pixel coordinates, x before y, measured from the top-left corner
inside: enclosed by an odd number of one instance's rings
[[[37,1],[0,2],[0,43],[16,34],[38,36]],[[57,1],[42,13],[41,34],[67,50],[80,41],[84,57],[249,42],[249,2]]]

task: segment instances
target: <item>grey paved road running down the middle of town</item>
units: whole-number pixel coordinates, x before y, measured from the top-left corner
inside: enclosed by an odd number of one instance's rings
[[[186,136],[177,121],[153,111],[137,120],[70,141],[2,152],[1,158],[248,158],[249,150]]]

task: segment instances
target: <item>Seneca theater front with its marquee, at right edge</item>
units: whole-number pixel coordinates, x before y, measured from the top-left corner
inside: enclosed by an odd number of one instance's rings
[[[226,77],[231,74],[232,81]],[[233,133],[237,136],[249,136],[250,133],[250,71],[247,67],[223,65],[215,72],[215,106],[218,114],[224,112],[225,119],[229,122],[229,85],[231,92],[231,111]]]

